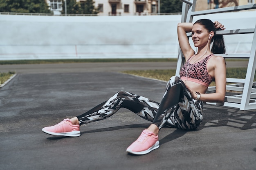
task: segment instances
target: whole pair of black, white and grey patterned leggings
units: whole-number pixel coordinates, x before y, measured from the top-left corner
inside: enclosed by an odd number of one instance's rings
[[[106,119],[121,107],[129,109],[141,118],[162,126],[178,129],[195,129],[202,122],[202,102],[192,99],[189,90],[179,77],[171,77],[161,103],[129,92],[117,92],[107,101],[77,116],[79,124]]]

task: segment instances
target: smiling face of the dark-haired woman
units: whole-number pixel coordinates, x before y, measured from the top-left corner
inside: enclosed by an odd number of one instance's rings
[[[192,40],[195,47],[204,47],[207,45],[210,33],[204,26],[194,24],[192,27]]]

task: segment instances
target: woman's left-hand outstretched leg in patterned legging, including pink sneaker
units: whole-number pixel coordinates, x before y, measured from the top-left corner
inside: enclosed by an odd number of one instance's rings
[[[129,109],[141,118],[152,122],[159,108],[159,103],[136,94],[120,91],[106,102],[99,104],[82,115],[72,119],[64,119],[59,124],[43,128],[42,131],[50,135],[80,136],[79,126],[81,124],[106,119],[121,107]]]

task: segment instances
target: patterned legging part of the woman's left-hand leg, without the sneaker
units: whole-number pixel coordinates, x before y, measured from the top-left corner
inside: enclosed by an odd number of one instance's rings
[[[95,122],[112,116],[122,107],[152,122],[159,108],[159,103],[143,96],[120,91],[107,101],[76,117],[80,125]]]

